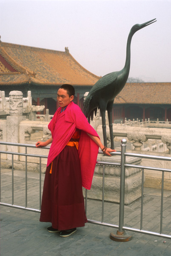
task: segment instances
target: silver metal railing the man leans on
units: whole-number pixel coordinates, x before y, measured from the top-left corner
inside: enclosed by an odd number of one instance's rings
[[[28,144],[19,144],[19,143],[6,143],[6,142],[0,142],[1,145],[13,145],[13,146],[20,146],[25,147],[26,152],[25,153],[17,153],[17,152],[8,152],[8,151],[0,151],[0,154],[11,154],[12,155],[12,203],[7,204],[0,202],[0,205],[7,206],[7,207],[14,207],[17,209],[25,209],[33,212],[40,212],[41,209],[41,159],[47,158],[48,156],[44,155],[35,155],[35,154],[28,154],[27,148],[36,148],[34,145],[28,145]],[[50,148],[50,147],[45,147]],[[103,154],[102,151],[99,151],[99,154]],[[165,172],[171,172],[170,169],[163,169],[163,168],[153,168],[148,166],[138,166],[133,164],[127,164],[125,163],[125,157],[141,157],[141,158],[147,158],[147,159],[155,159],[155,160],[166,160],[171,161],[171,157],[160,157],[160,156],[152,156],[152,155],[145,155],[145,154],[134,154],[134,153],[126,153],[126,140],[122,140],[121,144],[121,152],[113,152],[112,155],[120,155],[121,156],[121,162],[120,163],[109,163],[109,162],[101,162],[97,161],[97,164],[103,165],[103,190],[102,190],[102,219],[101,221],[95,221],[88,219],[89,223],[92,224],[98,224],[103,225],[106,227],[113,227],[117,228],[117,234],[114,235],[113,233],[110,234],[110,238],[115,241],[129,241],[131,240],[131,236],[127,235],[125,231],[132,231],[137,233],[143,233],[153,236],[160,236],[163,238],[171,239],[171,235],[163,234],[162,233],[162,218],[163,218],[163,192],[164,192],[164,173]],[[19,156],[25,156],[26,157],[26,205],[25,207],[14,205],[14,155]],[[40,158],[40,184],[39,184],[39,209],[29,208],[27,207],[27,157],[39,157]],[[105,185],[105,166],[120,166],[121,168],[121,175],[120,175],[120,214],[119,214],[119,225],[105,223],[104,222],[104,185]],[[138,168],[142,169],[142,188],[141,188],[141,213],[140,213],[140,229],[133,228],[133,227],[125,227],[124,226],[124,198],[125,198],[125,167],[132,167],[132,168]],[[161,207],[160,207],[160,232],[152,232],[148,230],[142,230],[142,221],[143,221],[143,183],[144,183],[144,169],[146,170],[154,170],[154,171],[160,171],[162,172],[162,189],[161,189]],[[1,169],[0,169],[1,170]],[[0,193],[1,193],[1,171],[0,171]],[[1,198],[1,197],[0,197]],[[1,200],[0,200],[1,201]],[[85,213],[87,213],[87,190],[85,190]]]

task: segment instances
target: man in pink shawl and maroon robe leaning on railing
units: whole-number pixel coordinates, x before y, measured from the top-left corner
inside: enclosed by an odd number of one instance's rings
[[[75,90],[63,84],[57,91],[60,108],[48,129],[52,137],[38,141],[37,148],[51,143],[43,186],[40,221],[51,222],[48,232],[68,237],[87,222],[82,186],[91,188],[99,147],[111,156],[97,132],[74,104]]]

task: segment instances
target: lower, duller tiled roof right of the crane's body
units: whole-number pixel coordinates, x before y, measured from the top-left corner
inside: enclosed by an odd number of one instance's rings
[[[114,104],[171,104],[171,83],[127,83]]]

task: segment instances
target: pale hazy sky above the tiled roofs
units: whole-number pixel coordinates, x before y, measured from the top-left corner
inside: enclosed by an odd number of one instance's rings
[[[2,42],[65,51],[97,76],[121,70],[131,27],[130,77],[171,82],[171,0],[0,0]]]

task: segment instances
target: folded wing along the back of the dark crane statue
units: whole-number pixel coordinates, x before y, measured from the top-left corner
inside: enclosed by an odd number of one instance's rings
[[[113,83],[116,79],[117,79],[117,73],[116,72],[112,72],[112,73],[109,73],[109,74],[103,76],[102,78],[100,78],[93,85],[93,87],[89,91],[89,93],[88,93],[88,95],[87,95],[87,97],[85,99],[85,102],[84,102],[84,113],[85,113],[85,116],[88,115],[88,109],[89,109],[92,97],[94,95],[96,95],[100,90],[107,89],[108,85]]]

